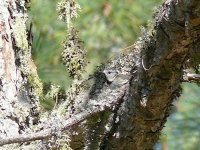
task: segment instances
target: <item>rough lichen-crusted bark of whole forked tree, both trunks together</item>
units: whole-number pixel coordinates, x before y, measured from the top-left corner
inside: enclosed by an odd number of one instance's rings
[[[32,134],[32,140],[24,141],[45,140],[28,145],[58,148],[55,141],[67,134],[71,140],[67,146],[72,149],[153,149],[172,101],[181,94],[183,70],[199,64],[195,55],[199,54],[200,37],[198,0],[167,0],[159,8],[152,27],[144,30],[133,46],[98,68],[91,79],[83,82],[84,87],[73,103],[60,104],[44,121],[36,116],[36,111],[32,113],[39,108],[41,83],[36,72],[30,70],[31,42],[27,41],[28,46],[24,47],[11,31],[17,20],[13,14],[25,15],[24,4],[3,0],[0,8],[2,141]],[[24,66],[29,69],[24,70]],[[71,108],[72,112],[66,112]]]

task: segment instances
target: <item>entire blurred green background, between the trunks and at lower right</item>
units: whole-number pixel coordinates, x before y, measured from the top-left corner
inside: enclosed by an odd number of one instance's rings
[[[66,25],[58,20],[58,0],[32,0],[33,59],[43,82],[68,88],[71,84],[61,63]],[[87,49],[87,72],[134,43],[141,26],[147,26],[161,0],[79,0],[82,11],[74,21]],[[200,88],[183,85],[183,95],[174,102],[156,150],[200,150]]]

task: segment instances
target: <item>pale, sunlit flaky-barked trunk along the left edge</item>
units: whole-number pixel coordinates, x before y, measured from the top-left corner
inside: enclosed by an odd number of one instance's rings
[[[38,77],[31,59],[31,39],[27,35],[24,5],[25,1],[0,2],[1,139],[33,132],[40,109],[38,93],[33,86],[39,86],[40,82],[35,83]]]

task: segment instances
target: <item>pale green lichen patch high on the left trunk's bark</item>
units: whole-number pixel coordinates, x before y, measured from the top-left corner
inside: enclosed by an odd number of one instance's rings
[[[22,51],[28,50],[25,20],[20,16],[16,16],[15,18],[13,35],[16,41],[16,46]]]

